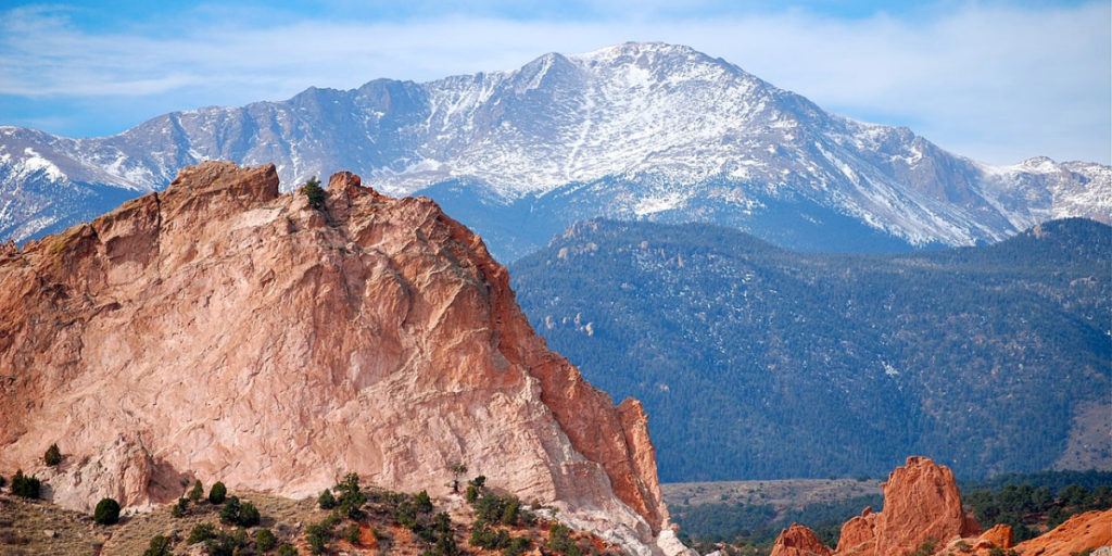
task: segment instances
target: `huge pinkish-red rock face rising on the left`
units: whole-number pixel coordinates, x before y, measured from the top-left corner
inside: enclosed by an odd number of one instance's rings
[[[454,461],[639,554],[669,528],[641,404],[545,348],[506,269],[424,198],[206,162],[0,251],[0,469],[89,510],[180,480],[306,496],[346,473],[445,495]],[[66,455],[41,465],[57,443]]]

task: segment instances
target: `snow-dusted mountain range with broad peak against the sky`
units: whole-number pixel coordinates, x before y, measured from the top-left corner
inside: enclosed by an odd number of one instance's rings
[[[714,221],[805,250],[1112,220],[1109,167],[982,165],[689,48],[626,43],[508,72],[172,112],[107,138],[0,128],[0,237],[58,230],[207,159],[275,162],[287,190],[351,170],[388,195],[428,195],[504,260],[599,216]]]

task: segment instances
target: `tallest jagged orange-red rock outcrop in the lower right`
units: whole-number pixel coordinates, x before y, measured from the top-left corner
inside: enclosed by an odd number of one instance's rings
[[[884,484],[884,510],[866,512],[842,527],[837,554],[904,556],[930,538],[939,544],[980,534],[962,510],[957,483],[949,467],[910,457]]]

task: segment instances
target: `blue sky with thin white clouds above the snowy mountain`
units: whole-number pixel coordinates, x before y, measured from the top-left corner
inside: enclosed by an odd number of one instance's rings
[[[627,41],[689,46],[983,162],[1112,163],[1109,0],[7,0],[0,126],[108,136],[175,110]]]

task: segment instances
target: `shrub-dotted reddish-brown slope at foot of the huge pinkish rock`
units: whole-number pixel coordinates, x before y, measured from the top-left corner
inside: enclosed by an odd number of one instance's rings
[[[457,513],[473,515],[473,524],[453,522],[453,517],[427,492],[417,494],[395,493],[360,485],[358,476],[347,475],[329,490],[335,493],[336,505],[321,509],[317,497],[300,502],[279,497],[230,493],[224,489],[221,504],[203,496],[190,499],[193,488],[176,504],[161,510],[131,516],[106,530],[112,536],[108,552],[101,540],[79,537],[87,530],[89,516],[70,513],[42,503],[12,503],[16,498],[0,495],[0,515],[7,517],[11,506],[14,519],[0,519],[0,554],[8,540],[20,543],[11,554],[58,554],[60,556],[101,554],[206,554],[207,556],[291,556],[296,554],[393,554],[420,556],[477,555],[480,552],[499,553],[499,556],[522,556],[542,547],[546,554],[568,556],[614,553],[597,539],[556,529],[560,535],[553,548],[548,547],[552,520],[536,515],[538,504],[524,504],[514,496],[496,493],[486,487],[485,480],[469,481],[476,486],[475,504],[469,510]],[[188,483],[183,484],[183,487]],[[450,485],[449,485],[450,486]],[[221,485],[222,487],[222,485]],[[214,485],[219,494],[220,488]],[[217,499],[220,499],[218,496]],[[27,528],[29,519],[57,516],[49,527],[60,532],[56,537],[9,534]],[[68,524],[68,525],[67,525]],[[12,527],[9,529],[8,527]],[[17,546],[17,545],[12,545]],[[559,550],[567,550],[559,552]]]

